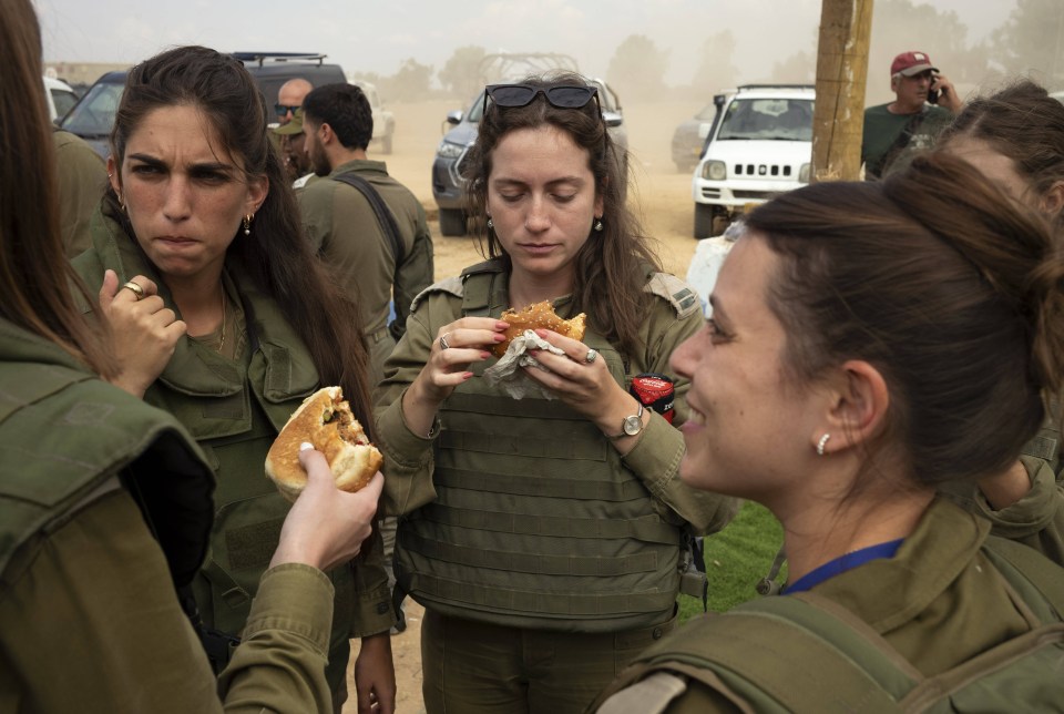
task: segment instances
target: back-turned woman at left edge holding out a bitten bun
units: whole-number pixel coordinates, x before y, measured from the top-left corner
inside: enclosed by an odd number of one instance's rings
[[[310,483],[217,682],[174,592],[203,561],[213,478],[173,417],[96,378],[114,359],[65,289],[40,55],[29,0],[0,0],[0,710],[221,712],[221,692],[226,711],[323,711],[318,569],[358,552],[382,479],[340,493],[306,452]]]

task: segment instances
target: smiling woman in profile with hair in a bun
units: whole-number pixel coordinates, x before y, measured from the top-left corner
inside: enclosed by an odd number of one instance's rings
[[[652,647],[612,690],[669,673],[598,711],[896,711],[884,688],[930,677],[932,694],[990,682],[980,711],[1058,704],[1064,571],[935,493],[1004,470],[1037,430],[1064,377],[1062,282],[1036,216],[948,155],[755,211],[713,319],[673,356],[692,381],[681,473],[768,507],[791,582]],[[869,650],[886,664],[851,672]],[[1013,661],[1019,679],[981,676]],[[654,706],[633,705],[652,684]]]

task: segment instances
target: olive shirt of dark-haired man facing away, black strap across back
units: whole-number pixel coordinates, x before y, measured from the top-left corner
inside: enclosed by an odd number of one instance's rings
[[[370,346],[374,384],[395,347],[388,333],[388,305],[395,298],[395,335],[401,335],[413,296],[432,284],[432,236],[421,202],[388,175],[383,162],[355,160],[336,167],[329,177],[357,174],[369,182],[391,211],[399,227],[403,258],[396,265],[391,239],[372,206],[357,190],[339,181],[307,183],[297,195],[303,223],[314,249],[358,302]]]

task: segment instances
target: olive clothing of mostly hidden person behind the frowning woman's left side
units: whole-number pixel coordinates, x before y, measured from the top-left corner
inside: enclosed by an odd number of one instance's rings
[[[76,134],[57,129],[55,180],[59,184],[59,227],[66,257],[84,252],[92,238],[89,220],[108,183],[108,165],[92,146]]]

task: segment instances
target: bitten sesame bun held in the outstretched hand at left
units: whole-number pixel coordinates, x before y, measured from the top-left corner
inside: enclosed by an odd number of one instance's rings
[[[307,484],[307,472],[299,463],[299,447],[305,441],[325,455],[341,491],[361,489],[383,461],[351,414],[344,391],[339,387],[318,389],[303,400],[266,453],[266,476],[293,502]]]

